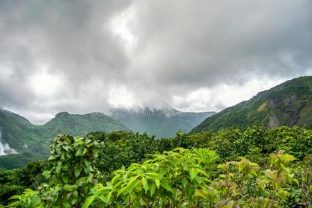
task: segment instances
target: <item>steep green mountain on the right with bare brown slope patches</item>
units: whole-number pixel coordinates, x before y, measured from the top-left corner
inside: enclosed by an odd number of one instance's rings
[[[312,76],[288,80],[259,92],[249,101],[227,107],[205,119],[191,133],[216,131],[232,125],[242,128],[250,125],[266,125],[268,128],[308,125],[312,128]]]

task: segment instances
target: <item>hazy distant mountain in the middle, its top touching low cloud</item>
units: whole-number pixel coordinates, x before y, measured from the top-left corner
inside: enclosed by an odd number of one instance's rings
[[[155,135],[157,138],[173,137],[177,131],[189,132],[216,112],[180,112],[172,107],[137,107],[112,109],[110,116],[135,132]]]

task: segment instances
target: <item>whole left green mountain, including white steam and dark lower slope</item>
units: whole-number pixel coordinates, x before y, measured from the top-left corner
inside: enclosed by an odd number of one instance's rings
[[[97,130],[130,131],[119,121],[101,113],[60,112],[44,125],[33,125],[18,114],[0,110],[0,168],[20,167],[30,159],[43,158],[49,142],[59,133],[84,136]]]

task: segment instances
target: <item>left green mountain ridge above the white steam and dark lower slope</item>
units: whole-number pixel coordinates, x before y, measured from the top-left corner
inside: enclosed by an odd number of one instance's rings
[[[0,130],[3,140],[16,150],[29,150],[30,146],[49,144],[59,133],[85,136],[88,132],[103,130],[128,131],[125,125],[101,113],[69,114],[60,112],[44,125],[33,125],[18,114],[0,110]],[[27,146],[27,147],[26,147]]]

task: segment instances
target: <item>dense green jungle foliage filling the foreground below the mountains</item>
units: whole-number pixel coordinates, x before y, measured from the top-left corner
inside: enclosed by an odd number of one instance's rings
[[[8,207],[312,207],[312,130],[227,128],[155,139],[59,135],[46,161],[0,171]]]

